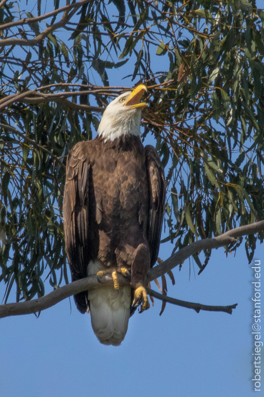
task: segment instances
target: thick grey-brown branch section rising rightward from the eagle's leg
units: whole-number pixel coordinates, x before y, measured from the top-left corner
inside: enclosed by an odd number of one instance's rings
[[[260,220],[260,222],[256,222],[251,225],[245,225],[229,230],[218,237],[195,241],[189,246],[184,247],[176,252],[176,254],[172,255],[170,258],[164,260],[164,262],[158,266],[155,266],[155,268],[151,269],[148,275],[148,282],[162,276],[162,274],[167,273],[169,270],[172,270],[178,264],[184,262],[184,260],[189,256],[194,255],[199,251],[211,250],[212,248],[219,248],[229,244],[234,244],[237,238],[249,234],[255,234],[261,232],[262,230],[264,230],[264,220]]]

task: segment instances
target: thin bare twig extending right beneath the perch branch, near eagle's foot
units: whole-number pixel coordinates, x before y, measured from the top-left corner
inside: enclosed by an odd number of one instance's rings
[[[209,312],[225,312],[232,314],[232,309],[235,309],[237,306],[237,303],[229,306],[210,306],[201,303],[185,302],[184,300],[179,300],[159,294],[158,292],[150,290],[149,288],[147,288],[147,292],[150,296],[154,296],[154,298],[160,299],[162,301],[173,303],[182,307],[188,307],[189,309],[194,309],[196,313],[199,313],[200,310],[207,310]]]

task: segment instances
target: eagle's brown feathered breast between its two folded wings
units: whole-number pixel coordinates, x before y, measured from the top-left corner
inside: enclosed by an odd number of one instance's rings
[[[107,266],[130,266],[133,251],[139,244],[148,244],[145,150],[135,136],[92,142],[91,173],[100,235],[98,257]]]

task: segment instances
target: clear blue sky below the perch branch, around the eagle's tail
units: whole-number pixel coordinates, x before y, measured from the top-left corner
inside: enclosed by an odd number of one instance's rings
[[[161,57],[159,62],[163,62]],[[109,71],[110,85],[120,85],[121,73]],[[172,245],[164,244],[159,256],[166,259],[172,250]],[[262,267],[263,253],[264,246],[258,244],[255,259],[261,260]],[[127,336],[118,347],[98,342],[89,316],[77,311],[72,298],[71,307],[66,299],[38,319],[34,315],[1,319],[1,396],[255,395],[251,266],[244,243],[235,256],[227,258],[224,248],[214,250],[200,276],[194,261],[186,260],[180,272],[178,267],[173,271],[175,286],[167,278],[168,295],[203,304],[238,303],[233,314],[197,314],[167,304],[160,317],[161,302],[155,300],[154,307],[130,319]],[[264,318],[264,310],[261,315]]]

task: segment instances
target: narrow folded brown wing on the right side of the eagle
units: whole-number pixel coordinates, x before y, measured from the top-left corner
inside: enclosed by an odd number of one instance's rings
[[[150,191],[150,212],[148,221],[148,241],[151,267],[156,263],[165,207],[165,177],[158,154],[153,146],[147,145],[146,165]]]

